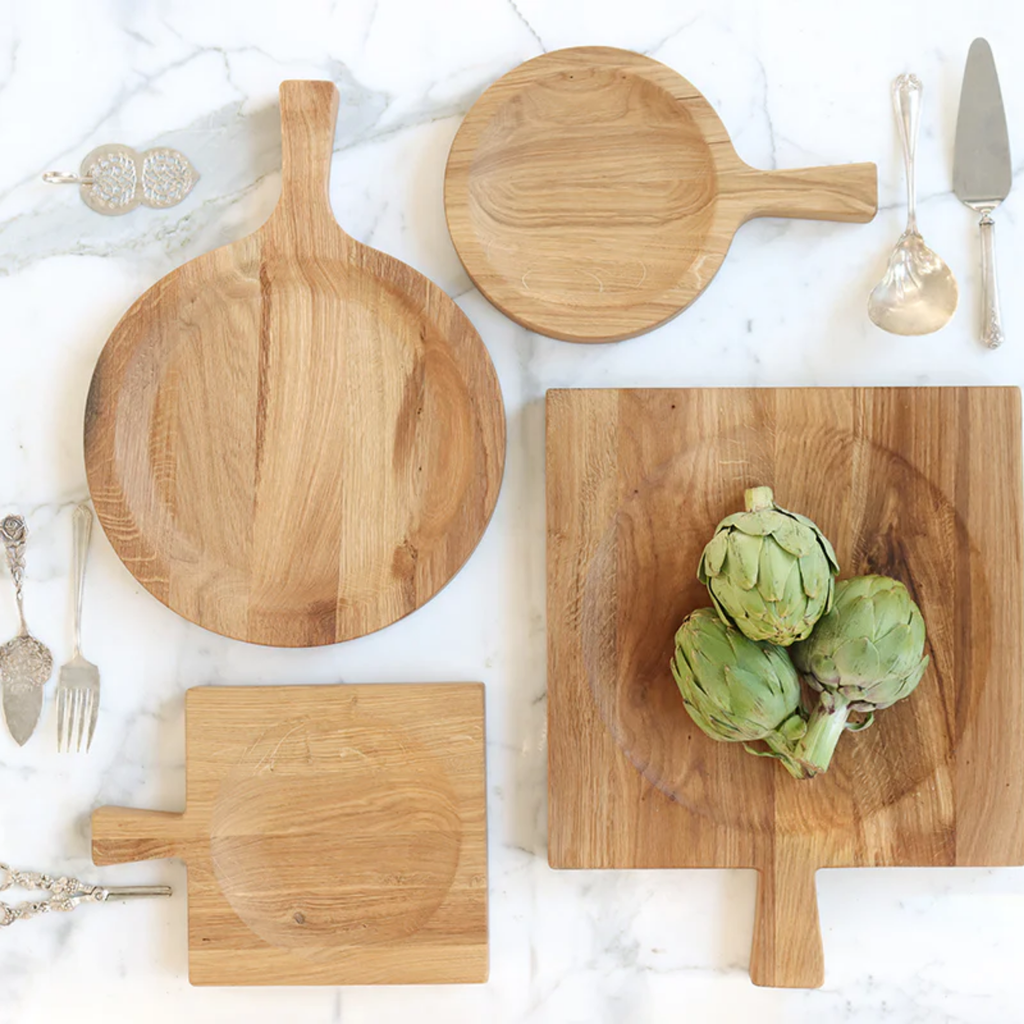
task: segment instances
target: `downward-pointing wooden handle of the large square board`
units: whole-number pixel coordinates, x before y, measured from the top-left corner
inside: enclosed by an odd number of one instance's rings
[[[804,847],[775,837],[775,859],[758,880],[751,948],[755,985],[819,988],[824,981],[814,872]]]

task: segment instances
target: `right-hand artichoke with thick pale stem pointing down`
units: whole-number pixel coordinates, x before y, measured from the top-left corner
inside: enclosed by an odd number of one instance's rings
[[[877,710],[912,692],[929,660],[921,609],[903,584],[882,575],[837,584],[833,609],[792,653],[804,678],[821,691],[798,754],[809,772],[828,767],[844,728],[870,725]],[[850,725],[851,711],[867,718]]]

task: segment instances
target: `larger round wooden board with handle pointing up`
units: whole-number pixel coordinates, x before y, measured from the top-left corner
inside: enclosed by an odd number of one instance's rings
[[[479,541],[505,460],[472,324],[334,219],[337,106],[330,82],[283,83],[276,209],[128,310],[86,411],[89,489],[131,573],[185,618],[275,646],[428,601]]]

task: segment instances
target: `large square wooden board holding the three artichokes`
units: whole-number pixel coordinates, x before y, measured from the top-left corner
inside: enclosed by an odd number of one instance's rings
[[[564,390],[547,415],[552,866],[757,868],[751,976],[811,987],[817,868],[1024,862],[1017,388]],[[915,692],[811,781],[709,739],[669,672],[755,484],[928,627]]]

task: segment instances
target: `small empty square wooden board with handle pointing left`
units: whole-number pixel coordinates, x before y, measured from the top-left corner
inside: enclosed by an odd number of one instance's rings
[[[487,978],[483,686],[202,687],[183,814],[100,807],[92,857],[188,865],[194,985]]]

